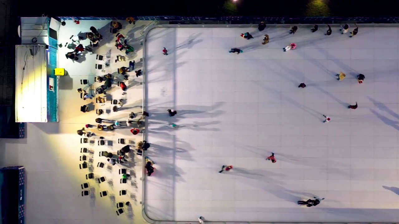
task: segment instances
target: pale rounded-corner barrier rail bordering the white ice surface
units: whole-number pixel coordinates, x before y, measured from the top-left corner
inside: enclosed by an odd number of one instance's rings
[[[161,22],[162,23],[162,22]],[[387,26],[384,26],[387,25]],[[314,24],[299,24],[297,25],[299,28],[300,27],[306,27],[310,28],[313,27]],[[339,24],[333,24],[330,25],[331,27],[340,27]],[[399,27],[399,24],[359,24],[359,27]],[[150,26],[146,29],[144,32],[144,38],[143,38],[143,111],[146,111],[146,99],[148,98],[148,90],[146,88],[146,81],[147,81],[147,76],[146,76],[146,41],[147,41],[147,35],[148,33],[155,28],[257,28],[257,24],[191,24],[191,25],[183,25],[183,24],[164,24],[164,25],[154,25]],[[276,27],[276,28],[281,28],[281,27],[290,27],[289,24],[268,24],[267,27]],[[327,27],[327,25],[326,25]],[[147,127],[147,122],[146,122],[146,127]],[[143,133],[143,140],[146,140],[148,136],[148,133],[144,131]],[[162,221],[162,220],[153,220],[152,218],[148,217],[145,211],[145,180],[146,180],[146,169],[144,168],[145,166],[145,155],[146,152],[143,151],[143,156],[142,156],[142,201],[140,202],[142,206],[142,216],[144,220],[148,223],[151,224],[192,224],[192,223],[198,223],[198,221]],[[200,214],[199,214],[200,215]],[[205,223],[206,224],[305,224],[305,223],[312,223],[312,224],[399,224],[399,223],[385,223],[385,222],[209,222],[206,221],[205,217]]]

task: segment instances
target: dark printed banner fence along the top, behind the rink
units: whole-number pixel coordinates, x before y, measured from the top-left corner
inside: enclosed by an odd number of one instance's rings
[[[60,20],[126,20],[127,17],[58,17]],[[185,16],[136,16],[134,20],[165,20],[165,21],[229,21],[232,23],[259,23],[265,21],[266,24],[340,24],[352,23],[358,24],[399,24],[399,17],[267,17],[267,16],[218,16],[218,17],[185,17]]]

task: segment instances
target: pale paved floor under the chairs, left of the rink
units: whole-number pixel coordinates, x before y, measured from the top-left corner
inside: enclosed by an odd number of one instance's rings
[[[95,83],[95,76],[111,73],[115,80],[121,79],[117,73],[117,68],[128,66],[128,60],[140,61],[142,58],[142,35],[140,30],[149,22],[137,22],[127,24],[121,21],[123,29],[120,31],[126,36],[129,44],[133,45],[136,52],[125,55],[116,49],[115,34],[109,32],[111,21],[81,21],[79,25],[67,21],[67,25],[61,27],[59,31],[59,42],[62,45],[69,42],[71,35],[79,32],[89,31],[90,26],[99,29],[104,39],[100,47],[95,49],[95,54],[85,53],[79,61],[73,62],[65,58],[65,53],[71,51],[66,47],[59,49],[58,65],[65,68],[68,75],[59,79],[59,120],[58,123],[27,124],[26,139],[21,140],[1,140],[2,156],[0,166],[24,165],[26,168],[26,223],[27,224],[92,224],[92,223],[143,223],[141,214],[141,194],[142,182],[142,161],[141,157],[130,153],[130,159],[124,164],[111,166],[105,157],[99,157],[100,151],[116,153],[124,145],[119,144],[120,138],[125,138],[130,142],[132,148],[138,141],[142,140],[142,134],[133,136],[130,128],[117,128],[114,132],[101,132],[92,129],[97,134],[92,140],[93,143],[81,144],[81,136],[76,134],[76,130],[81,129],[85,124],[95,125],[95,118],[106,118],[110,120],[120,120],[122,124],[128,118],[130,112],[139,113],[142,111],[143,88],[140,85],[142,77],[137,78],[134,73],[130,74],[126,81],[128,90],[126,95],[122,95],[122,90],[116,84],[109,91],[110,99],[125,99],[125,104],[118,112],[110,112],[112,108],[110,101],[105,105],[98,104],[95,100],[83,100],[77,93],[77,88],[84,88],[80,84],[81,79],[88,79],[93,84],[90,89],[101,85]],[[88,45],[89,40],[81,41],[83,45]],[[111,52],[111,57],[105,61],[96,59],[97,54],[106,55]],[[126,62],[117,62],[117,55],[126,56]],[[95,64],[105,64],[110,60],[110,67],[106,68],[106,73],[95,69]],[[142,63],[136,63],[136,69],[140,69]],[[141,68],[142,69],[142,68]],[[102,108],[107,113],[97,116],[95,111],[87,113],[80,112],[80,106],[89,104],[91,108]],[[104,136],[105,140],[112,142],[112,145],[98,145],[99,136]],[[82,147],[88,147],[93,151],[91,154],[81,153]],[[79,161],[82,155],[89,156],[89,168],[79,169]],[[106,163],[104,168],[97,167],[99,162]],[[131,178],[127,183],[121,184],[122,175],[119,169],[127,169]],[[96,177],[105,177],[104,183],[97,183],[97,180],[86,180],[85,175],[92,171]],[[81,184],[88,182],[90,196],[81,196]],[[119,195],[120,190],[127,190],[127,195]],[[107,197],[101,197],[101,191],[108,191]],[[117,216],[116,203],[130,201],[130,206],[125,206],[125,214]]]

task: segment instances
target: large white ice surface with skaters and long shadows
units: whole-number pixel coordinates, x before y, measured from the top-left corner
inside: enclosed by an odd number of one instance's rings
[[[399,29],[359,28],[353,38],[332,29],[330,36],[322,26],[295,35],[288,28],[148,33],[146,153],[156,163],[145,181],[150,218],[398,222]],[[244,32],[255,38],[243,39]],[[296,49],[283,52],[292,42]],[[244,52],[228,53],[233,47]],[[337,81],[340,72],[346,79]],[[277,163],[265,160],[271,152]],[[222,165],[234,169],[218,173]],[[296,204],[313,196],[325,200]]]

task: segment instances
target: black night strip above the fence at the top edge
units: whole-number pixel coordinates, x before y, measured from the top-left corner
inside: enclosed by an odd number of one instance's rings
[[[16,1],[19,16],[399,16],[398,0]]]

